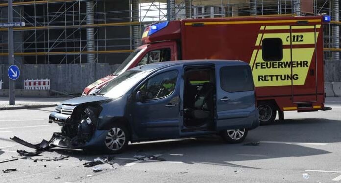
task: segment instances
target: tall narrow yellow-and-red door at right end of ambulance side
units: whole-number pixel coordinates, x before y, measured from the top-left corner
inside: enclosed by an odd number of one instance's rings
[[[290,70],[293,103],[317,101],[318,25],[290,26]],[[320,25],[319,25],[320,26]],[[322,61],[322,60],[321,60]],[[321,69],[321,68],[320,68]]]

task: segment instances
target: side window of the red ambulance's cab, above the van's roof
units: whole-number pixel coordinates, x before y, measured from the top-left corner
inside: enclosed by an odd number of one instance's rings
[[[148,52],[138,63],[138,66],[154,62],[170,61],[170,48],[152,50]]]

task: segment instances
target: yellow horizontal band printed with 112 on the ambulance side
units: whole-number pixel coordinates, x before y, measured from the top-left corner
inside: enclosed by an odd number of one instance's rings
[[[318,32],[315,32],[315,34],[316,34],[316,42],[317,42]],[[280,38],[280,39],[282,39],[283,45],[290,45],[289,36],[290,36],[290,33],[266,33],[263,35],[263,39]],[[298,36],[298,37],[296,37],[296,36]],[[315,40],[314,32],[295,32],[295,33],[292,33],[292,45],[314,44],[314,40]]]

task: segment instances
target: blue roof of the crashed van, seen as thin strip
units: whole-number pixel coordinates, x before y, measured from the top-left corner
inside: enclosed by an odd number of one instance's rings
[[[215,64],[215,65],[248,65],[248,63],[240,61],[240,60],[179,60],[179,61],[167,61],[167,62],[157,62],[146,65],[141,65],[132,68],[131,70],[140,70],[140,71],[152,71],[155,69],[161,69],[166,67],[171,67],[175,65],[202,65],[202,64]]]

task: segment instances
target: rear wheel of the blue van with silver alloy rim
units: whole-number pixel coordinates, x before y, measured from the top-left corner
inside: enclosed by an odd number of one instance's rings
[[[231,129],[221,133],[222,139],[231,144],[243,142],[247,136],[247,129]]]

